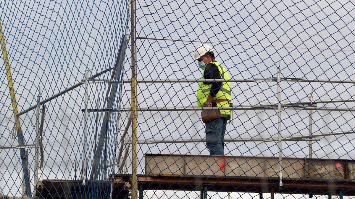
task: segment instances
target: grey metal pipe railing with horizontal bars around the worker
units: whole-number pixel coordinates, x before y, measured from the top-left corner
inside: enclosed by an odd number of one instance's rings
[[[132,59],[133,63],[133,59]],[[132,65],[133,66],[133,65]],[[279,66],[280,67],[280,66]],[[293,81],[293,82],[309,82],[309,83],[337,83],[337,84],[355,84],[355,80],[336,80],[336,79],[306,79],[306,78],[282,78],[280,76],[280,70],[279,67],[277,67],[277,78],[268,78],[268,79],[261,79],[261,78],[254,78],[254,79],[147,79],[147,80],[136,80],[135,78],[132,78],[131,80],[110,80],[110,79],[89,79],[88,83],[92,84],[106,84],[106,83],[131,83],[132,88],[132,107],[124,107],[121,109],[82,109],[83,112],[88,113],[88,112],[132,112],[132,108],[135,110],[133,111],[134,114],[132,115],[133,120],[129,120],[129,123],[132,122],[132,128],[133,128],[133,138],[131,141],[126,141],[124,142],[124,139],[121,139],[122,146],[123,142],[124,144],[127,144],[128,147],[130,145],[133,146],[132,150],[132,171],[134,173],[133,176],[136,175],[136,157],[137,157],[137,149],[136,144],[159,144],[159,143],[197,143],[197,142],[205,142],[205,139],[178,139],[178,140],[137,140],[137,112],[154,112],[154,111],[201,111],[201,110],[210,110],[210,109],[216,109],[215,107],[207,108],[207,107],[139,107],[138,104],[136,104],[136,98],[137,98],[137,90],[136,86],[137,83],[196,83],[196,82],[204,82],[204,83],[211,83],[211,82],[246,82],[246,83],[277,83],[277,98],[278,102],[265,102],[265,103],[259,103],[255,105],[239,105],[239,106],[234,106],[234,107],[226,107],[222,108],[220,107],[219,109],[223,110],[277,110],[277,115],[278,115],[278,137],[271,137],[271,138],[227,138],[224,141],[225,142],[278,142],[278,148],[279,148],[279,186],[282,187],[282,176],[283,176],[283,168],[282,168],[282,141],[308,141],[309,142],[309,157],[312,157],[312,141],[318,141],[319,139],[316,139],[316,137],[324,137],[324,136],[330,136],[330,135],[344,135],[348,133],[354,133],[354,131],[342,131],[342,132],[329,132],[329,133],[317,133],[313,134],[312,133],[312,114],[313,110],[327,110],[327,111],[350,111],[354,112],[355,108],[339,108],[339,107],[317,107],[318,103],[345,103],[345,102],[354,102],[355,99],[350,98],[350,99],[327,99],[327,100],[317,100],[313,101],[313,88],[310,96],[309,101],[299,101],[299,102],[281,102],[281,83],[282,81]],[[132,76],[135,77],[135,70],[132,69]],[[86,83],[86,80],[82,80],[82,82]],[[134,103],[133,103],[134,102]],[[282,109],[295,109],[295,110],[309,110],[309,135],[301,135],[301,136],[289,136],[284,138],[282,136],[282,130],[281,130],[281,110]],[[129,126],[127,124],[127,126]],[[125,129],[124,135],[127,133],[127,127]],[[120,147],[119,151],[119,160],[122,156],[122,148]],[[124,155],[123,162],[127,158],[127,151]],[[120,161],[117,161],[116,163],[111,164],[110,166],[113,165],[118,165],[121,170]],[[134,180],[134,178],[132,178]],[[134,182],[132,182],[134,184]],[[136,189],[134,189],[136,190]],[[133,189],[132,189],[133,191]],[[135,192],[135,191],[134,191]]]

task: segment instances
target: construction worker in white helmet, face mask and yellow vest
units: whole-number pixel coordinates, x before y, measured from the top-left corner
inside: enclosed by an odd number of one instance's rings
[[[206,44],[196,46],[193,54],[203,70],[202,79],[229,79],[227,70],[214,59],[214,49]],[[231,89],[229,82],[200,82],[196,91],[199,107],[230,107]],[[219,108],[219,117],[206,123],[206,146],[211,155],[224,155],[224,135],[231,110]]]

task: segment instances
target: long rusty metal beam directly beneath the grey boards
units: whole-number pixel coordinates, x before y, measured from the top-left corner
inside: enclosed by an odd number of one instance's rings
[[[116,181],[131,182],[131,175],[114,176]],[[215,192],[251,192],[285,194],[336,195],[341,187],[348,196],[355,196],[354,181],[290,179],[284,178],[283,187],[279,187],[278,177],[216,177],[216,176],[157,176],[138,175],[138,183],[144,190],[200,191],[203,186]],[[272,190],[274,189],[274,190]]]

